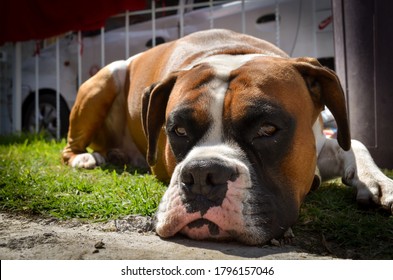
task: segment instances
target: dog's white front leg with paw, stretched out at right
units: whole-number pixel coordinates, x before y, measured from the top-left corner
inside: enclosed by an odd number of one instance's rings
[[[343,183],[357,188],[358,203],[375,203],[393,213],[393,180],[382,173],[361,142],[352,140],[351,144],[346,152],[336,140],[326,139],[318,155],[322,179],[341,177]]]

